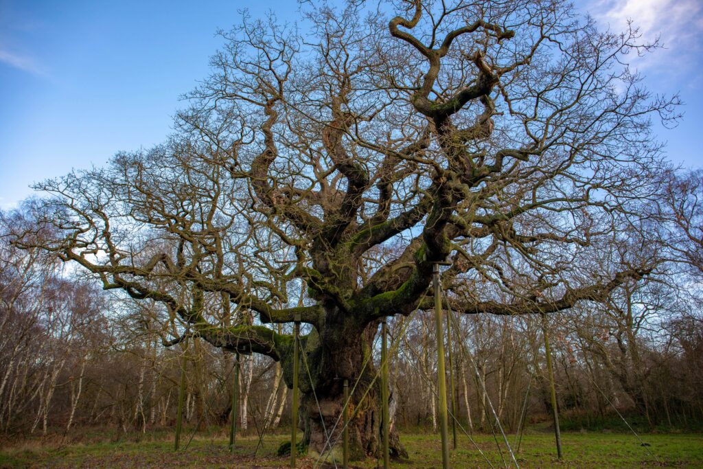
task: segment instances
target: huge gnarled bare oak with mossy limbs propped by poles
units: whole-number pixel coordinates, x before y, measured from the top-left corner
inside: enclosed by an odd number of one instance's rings
[[[662,192],[649,122],[677,100],[625,65],[654,47],[636,30],[600,32],[560,0],[351,1],[303,19],[245,16],[179,133],[41,184],[58,236],[18,243],[280,361],[289,386],[292,340],[266,324],[299,318],[305,442],[329,449],[335,428],[336,445],[340,378],[361,376],[363,457],[380,444],[378,385],[364,394],[378,323],[431,307],[434,262],[451,259],[442,283],[465,314],[553,313],[650,273],[601,261]]]

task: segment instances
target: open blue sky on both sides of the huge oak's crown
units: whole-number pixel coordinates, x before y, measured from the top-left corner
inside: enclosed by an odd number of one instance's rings
[[[660,35],[666,49],[638,68],[652,91],[686,105],[676,129],[657,133],[671,160],[703,167],[703,0],[580,5],[602,25],[632,18],[645,37]],[[214,33],[245,6],[283,19],[297,10],[274,0],[0,0],[0,208],[31,195],[34,181],[162,141],[179,96],[207,76],[222,44]]]

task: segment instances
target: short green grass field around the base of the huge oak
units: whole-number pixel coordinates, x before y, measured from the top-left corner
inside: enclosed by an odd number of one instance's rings
[[[0,447],[0,468],[282,468],[288,458],[276,456],[283,435],[264,439],[254,456],[257,437],[240,437],[236,454],[228,453],[223,435],[196,437],[187,449],[189,434],[181,451],[172,451],[168,434],[134,435],[120,441],[110,441],[104,435],[83,433],[82,442],[5,442]],[[139,441],[137,440],[139,439]],[[703,435],[652,434],[642,439],[641,446],[633,435],[620,433],[565,433],[562,435],[564,458],[555,458],[553,436],[546,432],[527,433],[522,438],[517,463],[521,468],[703,468]],[[411,461],[392,463],[393,468],[441,468],[439,437],[436,435],[404,435],[402,437]],[[510,444],[513,436],[509,436]],[[462,436],[458,449],[452,451],[452,468],[515,467],[509,454],[503,451],[506,463],[496,449],[492,435],[476,435],[476,445]],[[483,451],[482,457],[477,446]],[[505,446],[503,446],[505,448]],[[651,451],[651,454],[647,451]],[[487,460],[487,461],[486,461]],[[490,461],[490,462],[489,462]],[[379,461],[352,463],[354,468],[376,468]],[[299,468],[314,468],[312,458],[300,458]],[[333,467],[333,466],[332,466]]]

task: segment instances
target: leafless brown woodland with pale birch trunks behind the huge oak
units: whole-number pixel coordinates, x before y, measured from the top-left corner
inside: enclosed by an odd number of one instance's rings
[[[580,304],[548,316],[565,428],[617,428],[619,417],[612,406],[640,431],[701,428],[702,176],[694,172],[672,180],[671,198],[664,203],[673,214],[668,232],[671,253],[680,257],[672,259],[662,274],[625,283],[605,303]],[[31,226],[27,207],[32,203],[1,212],[4,437],[65,435],[70,428],[96,426],[124,433],[172,427],[184,351],[188,360],[184,419],[201,429],[225,428],[231,411],[232,354],[198,338],[189,345],[165,347],[169,344],[164,338],[150,330],[150,318],[157,315],[155,304],[104,293],[46,252],[11,245],[8,233]],[[511,431],[518,429],[521,418],[528,428],[548,421],[540,318],[491,314],[455,318],[460,326],[458,332],[453,330],[452,344],[461,425],[467,431],[491,431],[486,397]],[[394,424],[437,431],[431,311],[417,311],[409,321],[390,366]],[[389,321],[393,341],[400,329],[400,319]],[[287,429],[290,394],[280,364],[259,354],[241,360],[240,428]],[[476,372],[485,380],[487,396]]]

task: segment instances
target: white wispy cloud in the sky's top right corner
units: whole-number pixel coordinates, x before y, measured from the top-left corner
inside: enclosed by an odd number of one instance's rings
[[[643,41],[659,38],[664,49],[638,60],[640,69],[662,75],[690,75],[699,81],[703,53],[703,2],[700,0],[593,0],[587,7],[601,25],[624,30],[628,20]],[[689,80],[689,84],[692,84]]]

